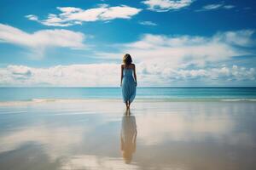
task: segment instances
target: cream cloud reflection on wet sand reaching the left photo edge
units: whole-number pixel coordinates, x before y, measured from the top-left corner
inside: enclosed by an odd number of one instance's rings
[[[88,130],[88,129],[87,129]],[[52,159],[66,155],[75,144],[81,144],[86,129],[82,127],[30,127],[0,138],[0,153],[16,150],[30,142],[41,144]]]

